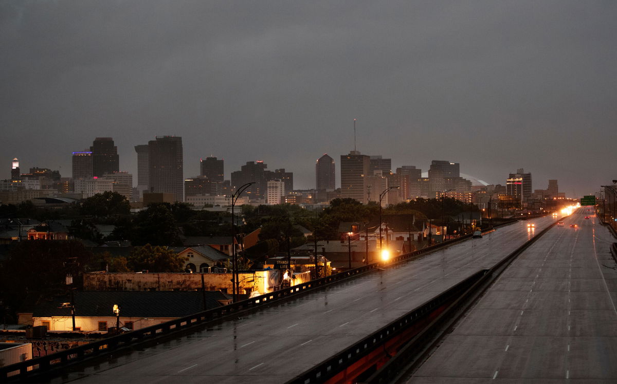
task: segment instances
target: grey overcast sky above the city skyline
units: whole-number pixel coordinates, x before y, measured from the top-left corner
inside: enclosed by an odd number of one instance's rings
[[[97,136],[182,136],[199,158],[294,172],[354,148],[392,167],[617,179],[616,1],[0,1],[0,178],[71,176]]]

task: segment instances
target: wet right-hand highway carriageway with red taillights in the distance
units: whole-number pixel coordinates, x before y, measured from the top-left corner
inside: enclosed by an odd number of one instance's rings
[[[579,208],[526,249],[404,381],[617,382],[614,241]]]

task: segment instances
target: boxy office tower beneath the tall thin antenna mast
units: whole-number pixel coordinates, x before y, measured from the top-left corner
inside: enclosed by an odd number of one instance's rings
[[[364,177],[370,174],[370,157],[359,151],[341,155],[341,198],[364,201]]]

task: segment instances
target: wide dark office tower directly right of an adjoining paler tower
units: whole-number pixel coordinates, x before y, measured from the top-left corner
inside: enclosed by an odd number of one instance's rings
[[[184,200],[182,138],[156,136],[148,141],[148,186],[153,193],[173,193]]]

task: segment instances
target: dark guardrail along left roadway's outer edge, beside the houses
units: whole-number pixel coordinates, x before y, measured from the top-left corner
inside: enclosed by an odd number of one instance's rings
[[[420,255],[431,253],[436,249],[444,248],[445,246],[458,243],[468,238],[471,238],[471,234],[461,236],[460,238],[453,240],[444,241],[443,243],[438,243],[418,251],[413,251],[412,253],[402,254],[393,257],[387,262],[374,262],[372,264],[363,265],[362,267],[339,272],[335,275],[294,285],[283,290],[262,294],[261,296],[255,296],[254,298],[245,299],[226,306],[197,312],[193,315],[170,320],[165,323],[151,325],[146,328],[140,328],[131,332],[122,333],[120,335],[110,336],[104,340],[98,340],[93,343],[77,346],[75,348],[65,349],[47,356],[36,357],[35,359],[7,365],[6,367],[0,367],[0,382],[5,382],[7,379],[17,381],[26,377],[41,375],[53,369],[59,369],[61,366],[82,362],[91,357],[100,357],[104,353],[111,353],[112,351],[117,351],[120,348],[125,348],[131,346],[132,344],[142,343],[157,337],[167,336],[170,335],[170,333],[180,332],[181,330],[186,330],[189,327],[201,325],[213,320],[222,320],[225,317],[238,314],[239,312],[251,311],[262,306],[270,305],[276,301],[289,298],[290,296],[307,293],[317,288],[323,288],[349,278],[358,277],[373,270],[381,269],[389,264],[408,261]],[[17,372],[17,374],[15,374],[15,372]]]

